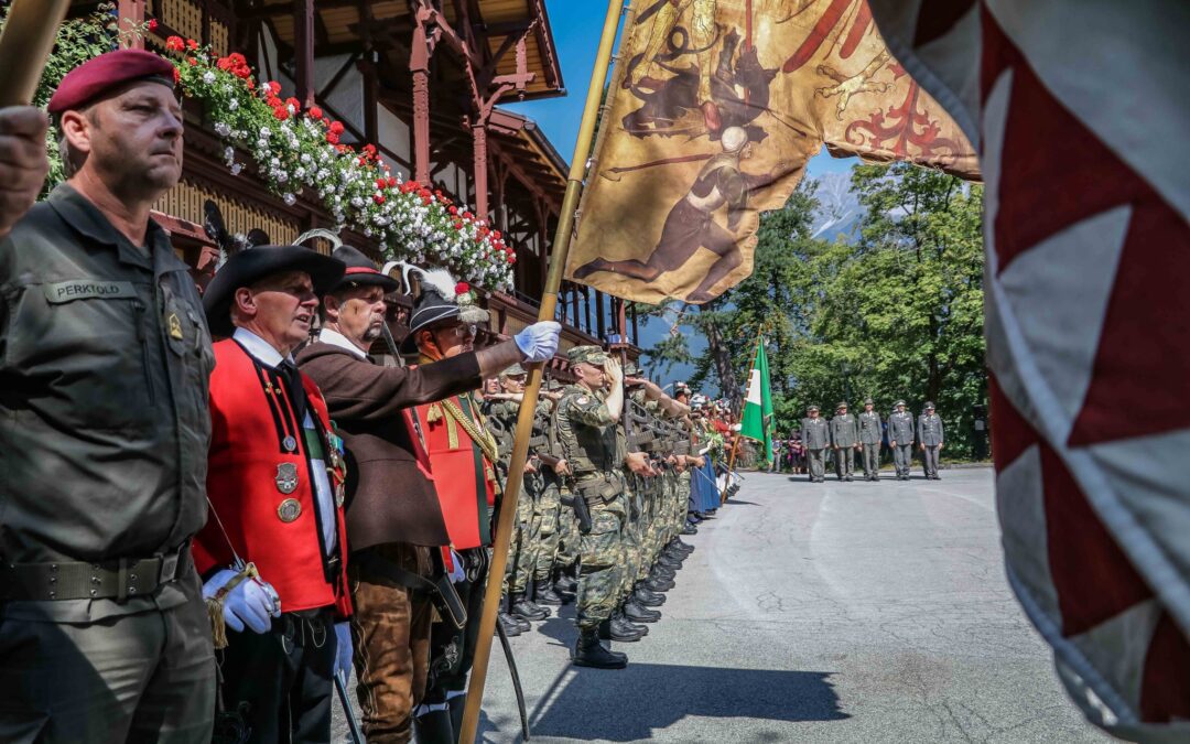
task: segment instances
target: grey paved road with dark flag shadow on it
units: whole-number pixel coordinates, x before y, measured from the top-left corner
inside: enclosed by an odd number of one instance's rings
[[[1009,593],[991,471],[942,477],[749,475],[626,670],[568,665],[570,608],[513,639],[533,740],[1108,740]],[[499,645],[488,680],[483,740],[519,740]]]

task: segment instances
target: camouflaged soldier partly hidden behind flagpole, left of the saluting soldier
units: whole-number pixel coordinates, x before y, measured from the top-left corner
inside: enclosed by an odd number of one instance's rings
[[[488,418],[491,433],[499,444],[500,459],[505,468],[512,457],[516,417],[520,411],[520,398],[525,392],[526,376],[527,373],[520,364],[509,367],[500,373],[502,392],[489,395],[483,401],[483,413]],[[539,408],[541,405],[538,401]],[[516,523],[508,545],[508,564],[505,569],[507,614],[526,621],[544,620],[550,617],[547,608],[533,602],[526,595],[528,579],[536,564],[534,545],[530,540],[533,529],[534,498],[541,493],[544,487],[538,471],[540,462],[534,461],[532,454],[530,452],[531,457],[525,463],[521,493],[516,499]],[[506,620],[511,620],[511,618]]]

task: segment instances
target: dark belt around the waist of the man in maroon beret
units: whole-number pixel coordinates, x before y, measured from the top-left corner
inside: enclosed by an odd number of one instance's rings
[[[151,558],[119,558],[86,563],[0,563],[0,595],[6,600],[114,599],[152,594],[182,575],[190,543]]]

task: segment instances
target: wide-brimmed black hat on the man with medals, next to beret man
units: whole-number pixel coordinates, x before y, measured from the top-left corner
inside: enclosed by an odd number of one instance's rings
[[[342,261],[302,248],[301,245],[257,245],[239,251],[227,260],[202,295],[207,325],[215,336],[231,336],[231,304],[236,290],[253,285],[265,276],[281,271],[305,271],[314,285],[314,294],[322,296],[343,277],[346,267]]]

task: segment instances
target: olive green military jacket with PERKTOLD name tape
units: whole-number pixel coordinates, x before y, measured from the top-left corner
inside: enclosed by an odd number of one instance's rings
[[[132,245],[69,186],[0,242],[0,558],[145,558],[207,519],[202,302],[165,232]],[[13,601],[4,615],[88,621],[176,606]]]

